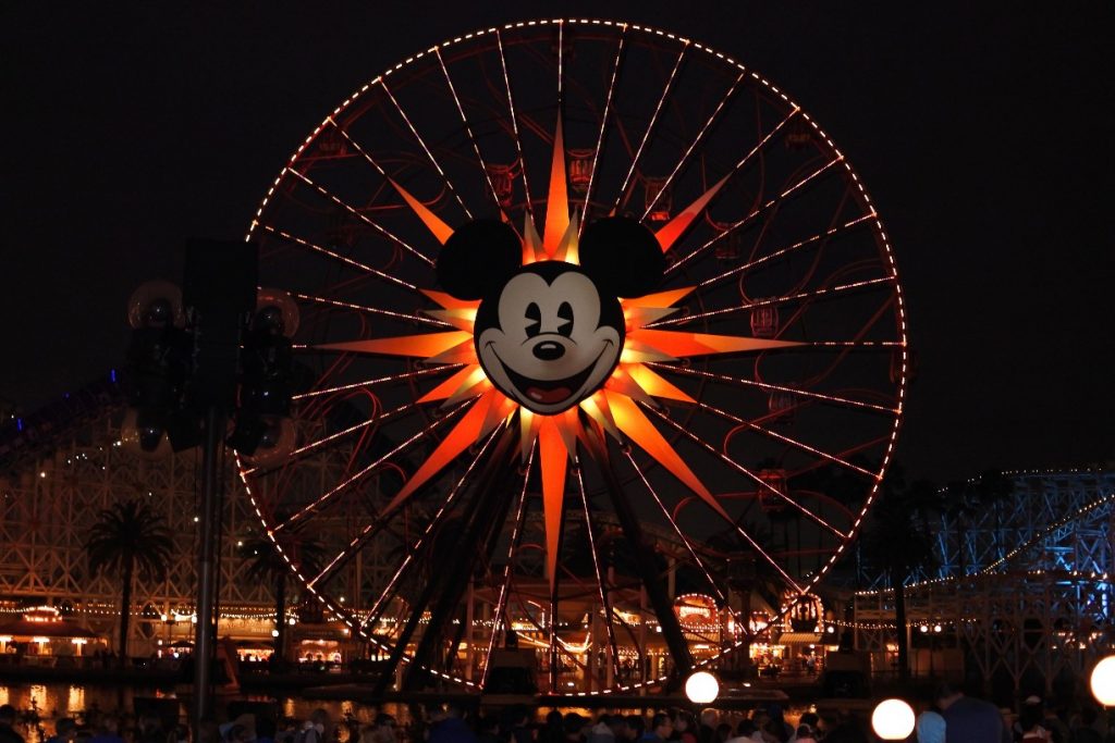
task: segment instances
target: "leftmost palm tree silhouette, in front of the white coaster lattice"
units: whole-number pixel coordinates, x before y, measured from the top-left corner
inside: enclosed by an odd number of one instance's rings
[[[120,666],[128,653],[132,619],[132,585],[138,574],[144,580],[163,580],[174,549],[174,534],[166,519],[139,500],[114,504],[97,517],[85,542],[93,575],[112,573],[120,577]]]

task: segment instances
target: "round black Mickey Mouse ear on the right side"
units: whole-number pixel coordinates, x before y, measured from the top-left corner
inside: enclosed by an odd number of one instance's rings
[[[655,234],[629,217],[605,217],[588,225],[578,250],[584,272],[615,296],[649,293],[666,271],[666,256]]]

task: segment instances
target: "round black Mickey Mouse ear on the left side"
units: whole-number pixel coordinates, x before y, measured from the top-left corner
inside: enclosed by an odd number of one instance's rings
[[[437,256],[437,281],[458,300],[481,300],[500,289],[522,265],[518,235],[498,219],[458,227]]]

